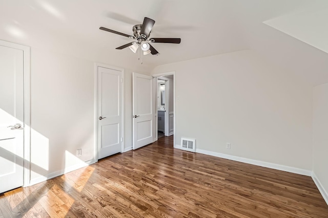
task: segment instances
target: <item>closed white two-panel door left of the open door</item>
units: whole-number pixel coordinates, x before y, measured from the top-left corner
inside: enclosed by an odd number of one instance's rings
[[[122,71],[97,67],[98,159],[122,151]]]

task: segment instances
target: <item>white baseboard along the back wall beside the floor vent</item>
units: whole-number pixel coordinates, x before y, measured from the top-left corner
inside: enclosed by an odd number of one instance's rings
[[[175,145],[175,148],[180,149],[180,145]],[[274,163],[269,163],[269,162],[264,162],[264,161],[257,161],[257,160],[252,160],[248,158],[241,158],[233,155],[226,155],[218,152],[213,152],[209,150],[203,150],[203,149],[198,149],[196,148],[196,153],[204,154],[204,155],[210,155],[218,158],[224,158],[232,161],[238,161],[242,163],[248,163],[248,164],[253,164],[256,166],[263,166],[271,169],[278,169],[286,172],[293,172],[297,173],[299,175],[304,175],[304,176],[312,176],[312,171],[311,170],[306,170],[306,169],[300,169],[300,168],[295,168],[295,167],[290,167],[290,166],[284,166],[284,165],[279,165],[279,164],[274,164]]]

